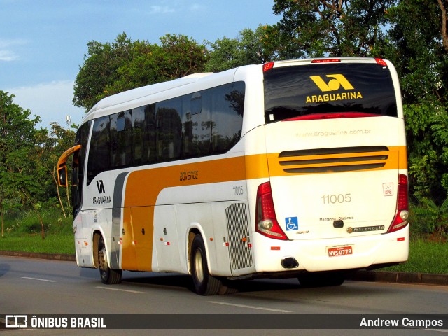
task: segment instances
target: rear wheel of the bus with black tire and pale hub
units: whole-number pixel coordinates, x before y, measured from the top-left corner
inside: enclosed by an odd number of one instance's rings
[[[223,286],[221,279],[209,274],[207,254],[201,235],[195,235],[191,245],[190,271],[197,294],[218,295],[226,293],[227,288]]]

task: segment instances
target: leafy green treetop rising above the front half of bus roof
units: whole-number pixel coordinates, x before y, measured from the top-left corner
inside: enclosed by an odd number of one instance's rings
[[[73,98],[86,110],[111,94],[202,72],[208,59],[205,45],[185,35],[167,34],[157,45],[132,41],[123,33],[112,44],[87,45]]]

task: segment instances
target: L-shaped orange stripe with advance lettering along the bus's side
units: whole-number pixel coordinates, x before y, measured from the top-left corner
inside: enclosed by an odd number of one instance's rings
[[[266,162],[265,166],[267,167]],[[263,170],[267,175],[267,169]],[[246,179],[244,156],[144,169],[130,173],[125,186],[123,211],[123,228],[129,234],[123,235],[122,268],[151,271],[154,206],[163,189],[244,179]],[[144,236],[141,235],[142,229],[145,229]],[[135,239],[136,235],[140,239]],[[142,238],[144,238],[142,244],[132,246],[132,241]],[[140,246],[146,246],[147,251],[141,250]]]

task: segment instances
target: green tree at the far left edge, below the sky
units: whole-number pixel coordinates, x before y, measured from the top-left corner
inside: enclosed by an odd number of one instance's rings
[[[13,102],[13,94],[0,91],[0,211],[3,235],[3,216],[10,205],[21,200],[36,211],[40,218],[37,197],[42,192],[33,160],[34,144],[39,132],[34,127],[40,121],[31,112]],[[10,202],[14,200],[14,202]],[[43,223],[42,237],[43,237]]]

